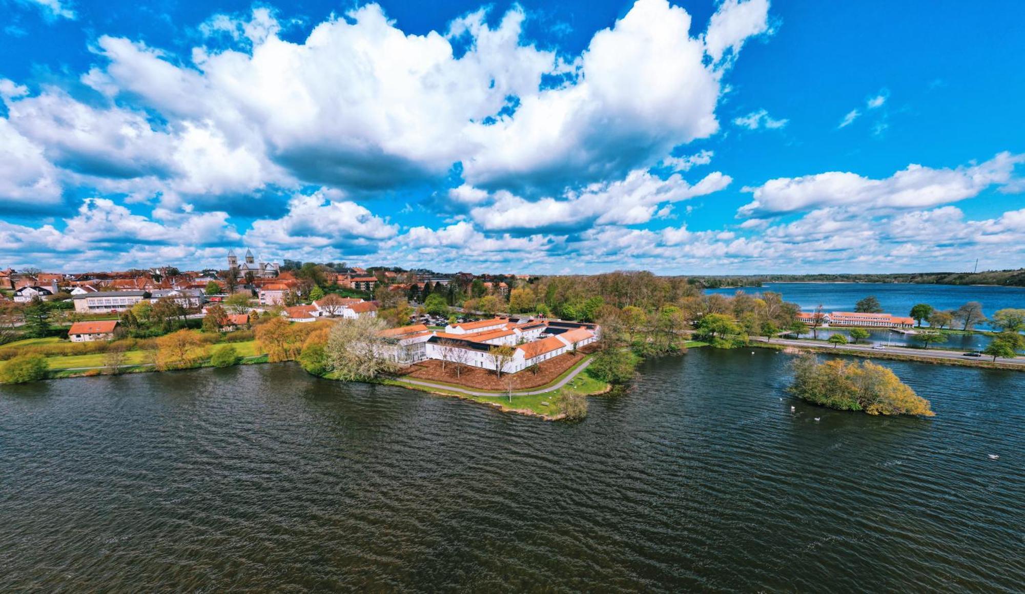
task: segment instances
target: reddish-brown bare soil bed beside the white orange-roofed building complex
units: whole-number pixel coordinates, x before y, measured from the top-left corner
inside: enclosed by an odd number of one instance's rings
[[[462,371],[459,374],[460,377],[457,378],[455,376],[455,366],[449,363],[445,366],[445,369],[442,370],[443,362],[436,359],[427,359],[416,365],[412,365],[403,370],[402,375],[416,378],[418,380],[456,384],[479,390],[501,391],[509,388],[514,390],[524,390],[536,388],[554,382],[556,378],[563,375],[566,370],[579,363],[582,358],[583,354],[567,352],[557,357],[549,358],[548,360],[541,362],[537,366],[539,368],[537,374],[533,374],[528,370],[523,370],[522,372],[517,372],[515,374],[502,374],[501,379],[496,378],[495,372],[491,370],[484,370],[469,366],[463,366]]]

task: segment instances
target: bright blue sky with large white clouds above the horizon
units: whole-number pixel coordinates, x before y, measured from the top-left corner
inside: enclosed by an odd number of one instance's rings
[[[0,13],[0,267],[1025,265],[1016,2]]]

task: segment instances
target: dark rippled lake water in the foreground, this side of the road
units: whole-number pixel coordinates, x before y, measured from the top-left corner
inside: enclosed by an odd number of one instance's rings
[[[937,417],[876,418],[788,358],[575,424],[294,365],[2,387],[0,591],[1020,592],[1025,374],[888,363]]]

